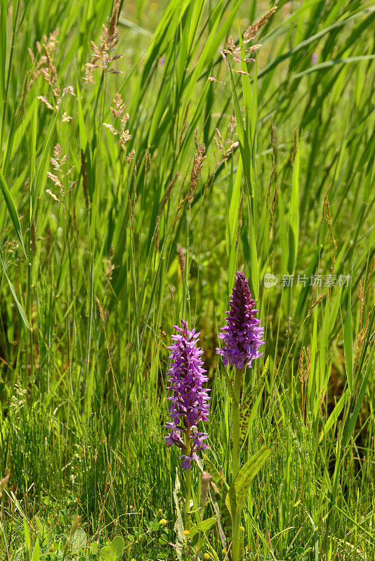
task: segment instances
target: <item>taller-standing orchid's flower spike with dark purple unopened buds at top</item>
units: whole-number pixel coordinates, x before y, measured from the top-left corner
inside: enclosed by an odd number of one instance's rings
[[[238,271],[235,277],[235,286],[229,302],[230,309],[226,312],[227,325],[222,327],[220,339],[223,339],[223,349],[216,352],[223,356],[224,366],[235,366],[243,368],[244,365],[251,367],[254,358],[262,356],[259,347],[264,344],[263,327],[261,320],[255,318],[258,310],[255,309],[255,300],[251,298],[249,283],[242,271]]]

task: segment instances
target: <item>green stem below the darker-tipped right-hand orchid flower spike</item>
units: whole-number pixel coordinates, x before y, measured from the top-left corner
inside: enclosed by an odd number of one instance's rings
[[[233,388],[234,399],[232,400],[232,480],[234,481],[239,472],[239,396],[241,393],[242,376],[244,368],[235,369],[235,385]],[[232,561],[239,561],[239,522],[241,515],[232,513]]]

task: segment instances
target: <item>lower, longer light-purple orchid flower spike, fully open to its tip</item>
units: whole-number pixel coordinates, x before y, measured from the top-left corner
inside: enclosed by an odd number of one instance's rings
[[[187,322],[181,320],[181,325],[174,325],[178,334],[172,335],[173,345],[171,349],[171,367],[168,372],[168,389],[173,392],[169,414],[173,421],[166,424],[171,430],[165,438],[166,443],[171,446],[176,444],[183,454],[181,466],[184,469],[191,467],[192,460],[197,460],[199,450],[208,448],[204,440],[208,437],[206,433],[197,431],[199,421],[209,418],[209,389],[204,389],[203,384],[208,380],[204,375],[206,370],[202,365],[202,349],[197,346],[199,333],[195,329],[190,331]],[[190,450],[185,443],[189,436]]]

